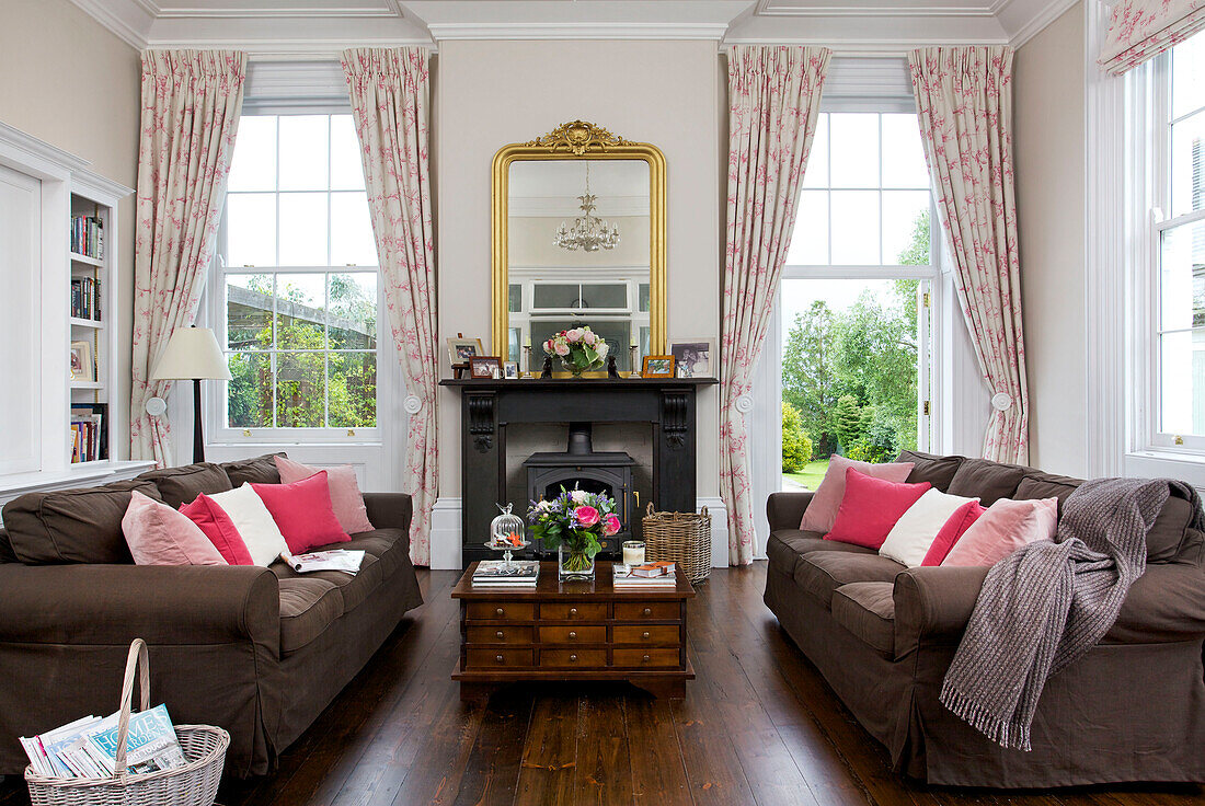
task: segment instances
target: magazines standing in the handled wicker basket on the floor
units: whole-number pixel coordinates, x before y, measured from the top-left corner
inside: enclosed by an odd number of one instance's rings
[[[34,772],[47,778],[108,778],[117,766],[117,720],[84,717],[33,739],[20,739]],[[130,714],[125,766],[131,773],[174,770],[187,764],[164,705]]]

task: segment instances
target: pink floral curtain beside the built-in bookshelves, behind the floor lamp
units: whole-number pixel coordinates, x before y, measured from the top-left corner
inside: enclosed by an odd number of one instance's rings
[[[227,173],[242,110],[245,53],[147,51],[142,54],[134,235],[134,378],[130,455],[171,464],[171,425],[146,404],[170,381],[149,381],[176,328],[196,318],[213,259]]]

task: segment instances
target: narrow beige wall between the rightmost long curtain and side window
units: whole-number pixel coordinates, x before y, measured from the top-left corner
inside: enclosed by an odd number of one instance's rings
[[[1072,476],[1088,471],[1084,63],[1080,2],[1017,51],[1013,84],[1029,458]]]

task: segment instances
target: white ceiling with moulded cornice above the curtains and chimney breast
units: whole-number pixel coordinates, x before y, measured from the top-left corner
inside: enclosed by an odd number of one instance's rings
[[[72,0],[145,47],[271,58],[449,39],[703,39],[898,53],[1019,46],[1075,0]]]

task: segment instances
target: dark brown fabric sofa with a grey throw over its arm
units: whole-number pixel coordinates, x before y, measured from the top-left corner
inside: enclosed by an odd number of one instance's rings
[[[909,481],[984,506],[1062,502],[1081,483],[983,459],[905,452],[900,461],[916,463]],[[937,701],[988,570],[910,570],[800,531],[810,500],[770,496],[765,604],[897,770],[975,787],[1205,782],[1205,536],[1188,528],[1188,501],[1164,506],[1146,573],[1105,639],[1047,682],[1025,753],[989,742]]]

